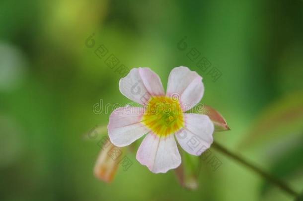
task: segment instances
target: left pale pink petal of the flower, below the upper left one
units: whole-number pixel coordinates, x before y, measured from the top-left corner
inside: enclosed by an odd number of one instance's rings
[[[120,107],[109,117],[108,135],[115,146],[127,146],[149,132],[140,121],[144,108]]]

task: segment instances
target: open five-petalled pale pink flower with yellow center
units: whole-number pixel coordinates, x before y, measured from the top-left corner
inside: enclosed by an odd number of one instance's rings
[[[202,77],[187,67],[174,68],[166,94],[159,76],[149,68],[134,68],[119,82],[120,92],[143,107],[120,107],[108,124],[111,142],[130,145],[143,135],[136,159],[153,173],[181,164],[175,138],[189,154],[200,155],[213,142],[214,125],[207,115],[185,113],[204,93]]]

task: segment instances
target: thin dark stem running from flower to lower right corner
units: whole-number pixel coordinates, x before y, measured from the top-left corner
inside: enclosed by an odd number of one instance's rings
[[[299,193],[297,193],[296,191],[294,191],[293,189],[291,189],[283,181],[281,181],[281,180],[275,178],[273,175],[271,175],[271,174],[263,171],[259,167],[253,165],[252,163],[250,163],[247,160],[245,160],[244,158],[242,158],[241,156],[239,156],[239,155],[237,155],[235,153],[232,153],[231,151],[227,150],[226,148],[224,148],[223,146],[221,146],[217,142],[214,141],[213,144],[212,144],[212,147],[215,148],[215,149],[217,149],[218,151],[222,152],[223,154],[229,156],[230,158],[233,158],[234,160],[238,161],[239,163],[245,165],[246,167],[250,168],[255,173],[259,174],[260,176],[264,177],[265,179],[267,179],[271,183],[273,183],[276,186],[280,187],[282,190],[284,190],[285,192],[289,193],[290,195],[295,196],[295,197],[299,196]]]

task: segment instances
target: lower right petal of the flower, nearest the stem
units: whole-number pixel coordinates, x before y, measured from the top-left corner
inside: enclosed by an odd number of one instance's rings
[[[181,147],[192,155],[201,155],[213,143],[214,124],[207,115],[184,114],[185,128],[176,133]]]

